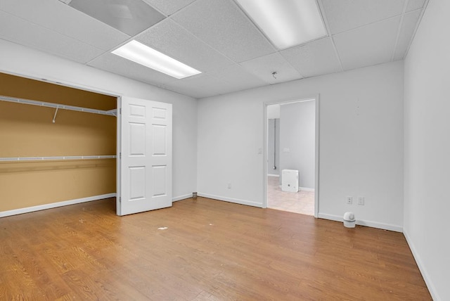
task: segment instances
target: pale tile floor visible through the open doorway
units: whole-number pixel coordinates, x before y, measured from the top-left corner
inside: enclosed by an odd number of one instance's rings
[[[297,193],[281,191],[279,179],[278,177],[267,177],[267,207],[314,215],[314,191]]]

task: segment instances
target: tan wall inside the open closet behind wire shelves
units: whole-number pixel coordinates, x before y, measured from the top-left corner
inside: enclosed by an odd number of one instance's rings
[[[112,110],[117,98],[0,73],[0,95]],[[115,155],[116,117],[0,101],[0,157]],[[0,162],[0,211],[116,192],[116,160]]]

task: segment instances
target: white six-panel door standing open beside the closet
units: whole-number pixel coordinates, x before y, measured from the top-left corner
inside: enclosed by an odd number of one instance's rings
[[[172,206],[172,104],[122,97],[117,215]]]

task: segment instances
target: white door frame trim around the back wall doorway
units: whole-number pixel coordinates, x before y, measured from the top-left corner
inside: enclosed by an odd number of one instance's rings
[[[267,139],[267,134],[268,134],[268,128],[267,128],[267,106],[269,105],[281,105],[281,104],[285,104],[285,103],[298,103],[298,102],[302,102],[302,101],[311,101],[314,100],[316,103],[316,126],[315,126],[315,170],[314,170],[314,217],[318,218],[319,217],[319,163],[320,163],[320,143],[319,143],[319,138],[320,138],[320,94],[316,94],[314,96],[309,96],[309,97],[304,97],[304,96],[300,96],[300,97],[296,97],[296,98],[289,98],[289,99],[285,99],[285,100],[278,100],[278,101],[266,101],[264,102],[263,105],[263,133],[262,133],[262,143],[263,143],[263,151],[262,151],[262,155],[263,155],[263,167],[262,167],[262,188],[263,188],[263,200],[262,200],[262,207],[266,208],[267,207],[267,162],[269,160],[268,158],[268,151],[267,149],[269,148],[269,146],[267,145],[268,143],[268,139]]]

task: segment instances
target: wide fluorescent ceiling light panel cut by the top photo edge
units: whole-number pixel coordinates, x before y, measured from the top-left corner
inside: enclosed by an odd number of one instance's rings
[[[325,37],[316,0],[236,0],[278,49]]]

